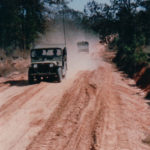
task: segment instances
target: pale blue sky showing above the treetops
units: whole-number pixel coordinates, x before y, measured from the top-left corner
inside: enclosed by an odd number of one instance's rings
[[[70,2],[69,6],[75,10],[83,11],[84,5],[87,4],[90,0],[73,0]],[[96,0],[97,2],[101,3],[109,3],[109,0]]]

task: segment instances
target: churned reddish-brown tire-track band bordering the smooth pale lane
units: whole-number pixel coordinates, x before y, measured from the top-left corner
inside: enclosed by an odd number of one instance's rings
[[[64,95],[59,107],[52,115],[53,117],[49,119],[49,121],[47,122],[43,130],[39,133],[39,136],[35,137],[32,143],[33,145],[31,144],[27,149],[36,149],[36,150],[51,149],[52,150],[55,149],[56,148],[55,145],[58,145],[58,143],[60,142],[59,139],[63,140],[64,142],[63,145],[57,147],[57,150],[67,149],[68,145],[72,143],[71,142],[69,144],[68,142],[72,139],[73,134],[74,134],[73,141],[75,138],[76,141],[80,141],[80,138],[78,138],[80,136],[78,134],[81,134],[81,131],[83,130],[82,123],[80,122],[84,122],[86,120],[82,118],[84,118],[87,115],[86,109],[89,110],[88,107],[90,105],[91,95],[93,95],[90,93],[93,93],[95,91],[93,90],[93,87],[91,87],[86,82],[87,78],[89,78],[89,75],[88,77],[84,76],[80,82],[78,80],[74,82],[72,88]],[[85,83],[87,85],[87,88],[84,88]],[[76,87],[80,87],[80,88],[75,90]],[[43,140],[41,141],[41,139]],[[54,141],[55,144],[51,144],[53,139],[55,139]],[[78,144],[75,144],[75,146],[77,145]],[[88,145],[90,146],[90,144]]]

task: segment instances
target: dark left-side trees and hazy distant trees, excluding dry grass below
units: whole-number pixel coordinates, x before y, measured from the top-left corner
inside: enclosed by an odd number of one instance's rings
[[[0,49],[6,55],[16,49],[30,49],[63,13],[80,24],[82,13],[70,9],[67,3],[66,0],[0,1]]]

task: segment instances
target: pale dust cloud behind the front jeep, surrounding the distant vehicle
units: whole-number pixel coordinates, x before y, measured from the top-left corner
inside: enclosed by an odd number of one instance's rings
[[[88,41],[89,53],[79,52],[77,42]],[[61,24],[53,25],[45,35],[42,35],[36,41],[36,48],[47,48],[51,46],[64,47],[65,39],[63,27]],[[98,66],[96,59],[92,58],[92,54],[99,50],[98,36],[93,33],[86,32],[74,25],[66,25],[66,47],[68,52],[68,71],[67,78],[75,77],[80,71],[94,70]]]

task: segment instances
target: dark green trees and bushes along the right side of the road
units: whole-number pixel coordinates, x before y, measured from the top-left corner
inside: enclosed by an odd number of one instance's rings
[[[102,41],[109,41],[117,50],[114,61],[133,76],[149,63],[143,50],[150,45],[150,1],[110,0],[110,4],[90,1],[85,7],[83,22],[99,33]],[[150,50],[149,50],[150,51]]]

